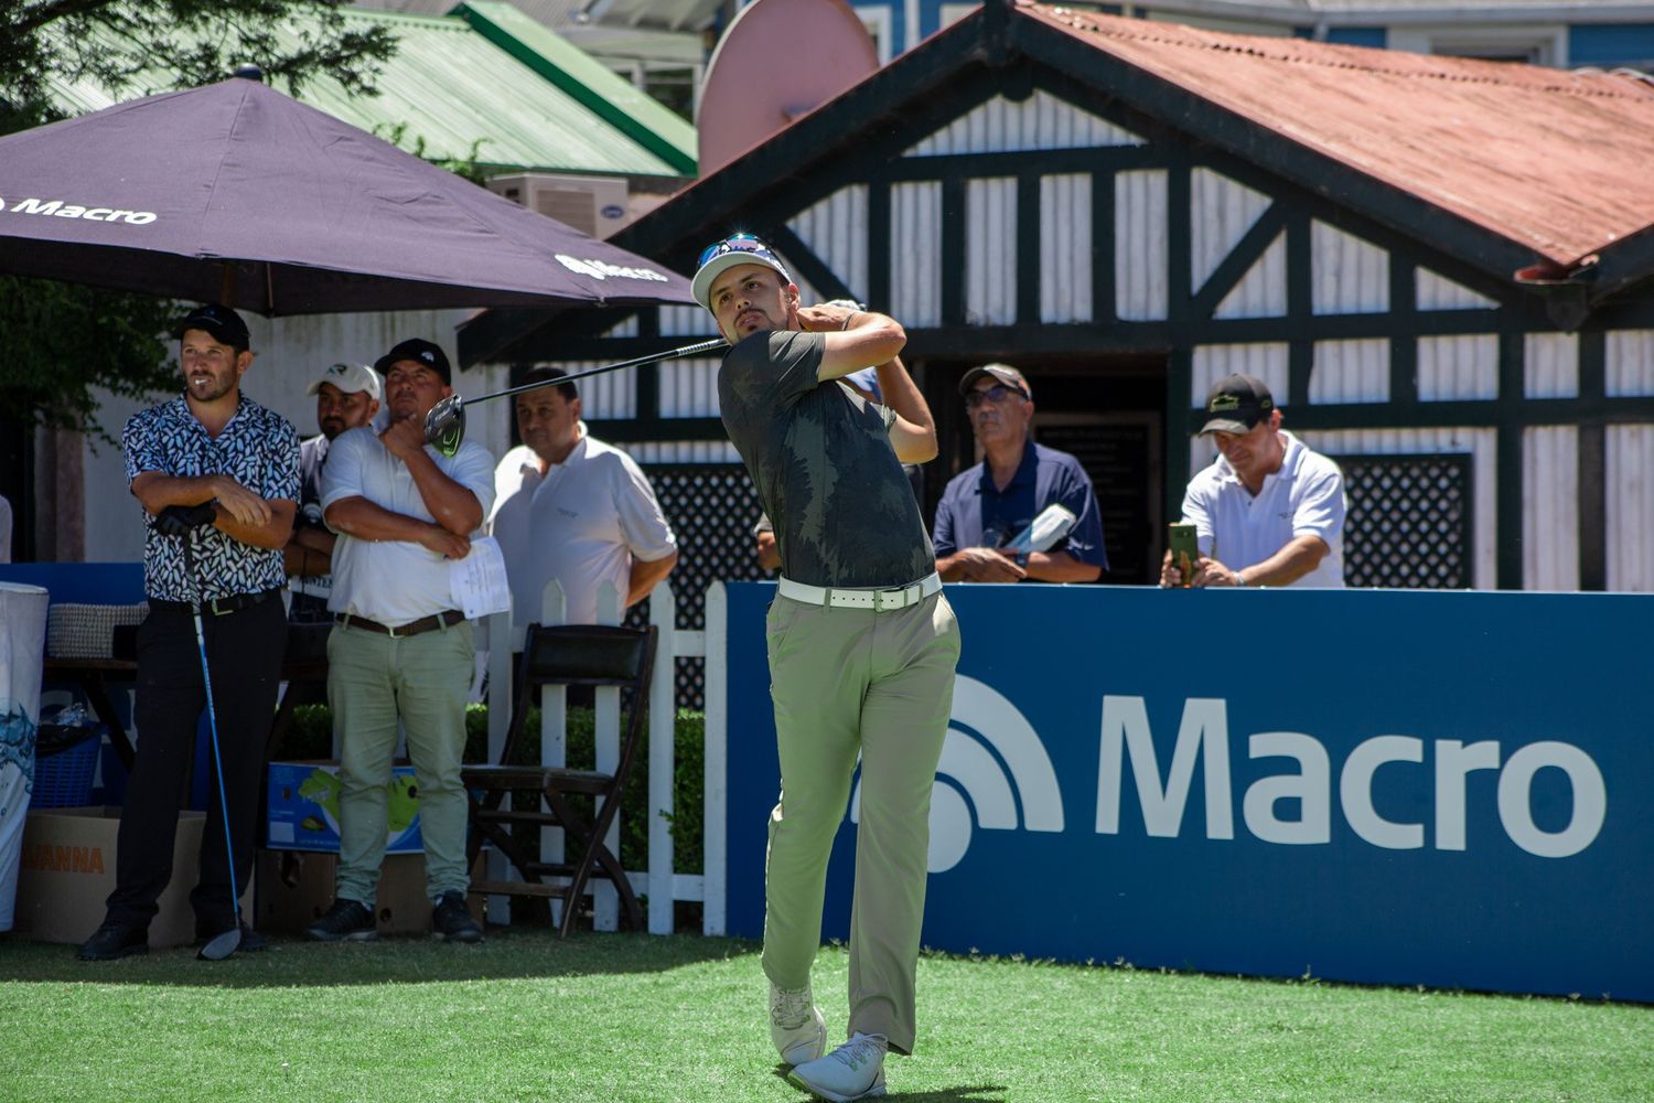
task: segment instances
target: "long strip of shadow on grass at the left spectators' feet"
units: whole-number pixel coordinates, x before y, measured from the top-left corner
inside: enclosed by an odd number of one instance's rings
[[[273,936],[270,949],[197,961],[194,946],[154,949],[121,961],[78,961],[74,946],[0,936],[7,982],[172,984],[180,987],[342,987],[597,974],[662,972],[756,956],[758,943],[700,934],[592,934],[567,939],[546,928],[490,928],[478,946],[428,938],[311,943]],[[756,967],[756,962],[754,962]]]

